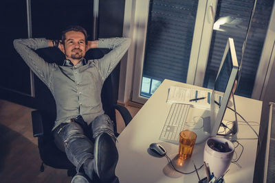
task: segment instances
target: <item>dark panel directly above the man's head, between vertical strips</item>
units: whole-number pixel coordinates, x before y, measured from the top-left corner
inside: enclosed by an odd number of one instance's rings
[[[61,38],[69,25],[80,25],[91,35],[93,5],[90,0],[32,1],[32,36]]]

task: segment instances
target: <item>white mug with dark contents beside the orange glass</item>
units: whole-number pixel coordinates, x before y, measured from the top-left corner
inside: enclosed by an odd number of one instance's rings
[[[229,149],[226,152],[220,152],[209,147],[208,142],[214,140],[217,143],[228,143]],[[234,145],[226,138],[212,137],[208,138],[203,152],[203,161],[209,164],[210,173],[214,173],[216,178],[221,177],[230,166],[234,155]]]

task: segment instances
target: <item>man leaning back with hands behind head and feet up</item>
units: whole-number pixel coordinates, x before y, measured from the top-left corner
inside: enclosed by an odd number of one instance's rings
[[[14,48],[30,69],[50,88],[56,100],[54,141],[76,166],[72,182],[94,180],[118,182],[115,166],[113,121],[104,114],[100,99],[104,80],[129,48],[129,38],[104,38],[87,41],[83,27],[71,26],[62,40],[31,38],[14,40]],[[47,63],[34,50],[58,47],[65,54],[63,66]],[[85,60],[91,48],[112,49],[103,58]],[[86,131],[89,131],[87,134]],[[87,136],[92,136],[92,141]],[[79,172],[83,170],[84,178]]]

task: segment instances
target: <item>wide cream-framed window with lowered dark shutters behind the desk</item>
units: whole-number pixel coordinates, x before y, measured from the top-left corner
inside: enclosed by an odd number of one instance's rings
[[[260,58],[273,3],[258,0],[256,4],[238,95],[252,96],[257,69],[263,62]],[[136,47],[132,100],[144,103],[151,96],[151,90],[144,95],[145,88],[151,88],[153,80],[170,79],[211,88],[228,37],[234,38],[238,61],[241,60],[253,5],[253,0],[138,1],[136,34],[133,34]],[[224,19],[228,19],[227,23],[218,24]],[[234,23],[237,28],[230,27]],[[142,88],[142,84],[146,87]]]

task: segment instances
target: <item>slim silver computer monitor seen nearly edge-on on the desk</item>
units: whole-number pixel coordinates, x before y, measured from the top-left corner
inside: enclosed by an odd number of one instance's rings
[[[219,66],[216,80],[214,82],[214,88],[212,90],[211,102],[210,102],[210,136],[216,136],[223,120],[225,110],[230,101],[232,90],[234,85],[236,86],[236,78],[238,75],[239,64],[236,59],[236,51],[234,47],[234,40],[228,38],[223,58]],[[234,104],[234,97],[233,97]],[[235,107],[235,106],[234,106]],[[236,110],[236,108],[234,108]],[[236,113],[235,113],[236,118]],[[237,131],[236,119],[233,125],[233,133]]]

